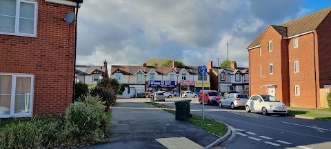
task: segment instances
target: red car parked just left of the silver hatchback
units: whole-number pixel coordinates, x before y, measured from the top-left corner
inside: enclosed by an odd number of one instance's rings
[[[217,105],[219,101],[223,98],[219,96],[219,92],[216,90],[203,90],[205,95],[205,101],[203,103],[208,103],[208,105]],[[202,90],[199,92],[199,102],[202,104]]]

